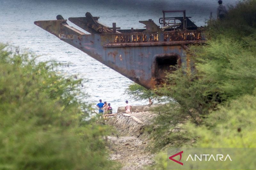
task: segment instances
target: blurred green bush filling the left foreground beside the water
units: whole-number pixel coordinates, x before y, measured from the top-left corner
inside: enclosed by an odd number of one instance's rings
[[[106,153],[108,127],[85,121],[81,80],[56,66],[0,45],[0,169],[118,168]]]

